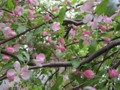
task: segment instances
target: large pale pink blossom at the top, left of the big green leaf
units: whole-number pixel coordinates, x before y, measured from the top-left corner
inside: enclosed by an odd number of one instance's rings
[[[93,2],[85,2],[80,9],[82,12],[92,12],[93,6],[94,6]]]

